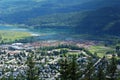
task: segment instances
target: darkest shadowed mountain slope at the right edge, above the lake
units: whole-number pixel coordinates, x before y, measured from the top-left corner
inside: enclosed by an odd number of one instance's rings
[[[91,11],[78,24],[81,32],[120,35],[120,8],[105,7]]]

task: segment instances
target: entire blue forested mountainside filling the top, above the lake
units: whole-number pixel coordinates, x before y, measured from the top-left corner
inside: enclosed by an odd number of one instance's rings
[[[120,35],[119,5],[119,0],[1,0],[0,23]]]

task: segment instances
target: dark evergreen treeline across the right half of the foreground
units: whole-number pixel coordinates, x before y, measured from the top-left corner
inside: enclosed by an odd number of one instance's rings
[[[86,64],[78,62],[76,55],[64,55],[59,65],[58,80],[120,80],[115,55],[111,59],[103,57],[98,63],[89,58]]]

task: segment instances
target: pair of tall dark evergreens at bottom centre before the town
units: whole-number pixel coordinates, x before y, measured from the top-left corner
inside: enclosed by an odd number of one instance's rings
[[[81,74],[76,55],[65,55],[59,62],[61,80],[79,80]]]

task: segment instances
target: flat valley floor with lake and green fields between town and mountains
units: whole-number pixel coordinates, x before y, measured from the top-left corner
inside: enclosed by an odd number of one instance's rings
[[[59,29],[51,30],[49,28],[28,30],[26,28],[2,25],[0,30],[1,45],[12,43],[29,43],[32,47],[57,46],[59,44],[77,45],[89,49],[92,53],[97,53],[99,57],[103,57],[106,52],[114,51],[114,46],[118,45],[118,43],[113,45],[114,38],[110,41],[111,44],[109,43],[111,37],[99,39],[84,34],[78,36],[76,34],[69,35],[69,32],[65,32],[65,29],[61,30],[63,32]],[[109,47],[105,45],[109,45]]]

